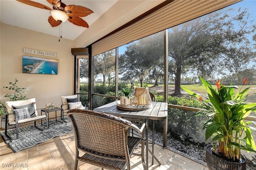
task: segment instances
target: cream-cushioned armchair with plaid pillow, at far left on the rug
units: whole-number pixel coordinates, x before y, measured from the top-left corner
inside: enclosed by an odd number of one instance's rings
[[[18,127],[20,124],[29,123],[34,121],[34,126],[40,130],[46,130],[49,128],[47,115],[45,111],[45,115],[38,115],[36,109],[36,99],[28,99],[28,100],[19,100],[19,101],[11,101],[5,102],[5,106],[7,109],[5,115],[5,131],[4,134],[9,139],[15,140],[14,138],[10,137],[7,134],[8,125],[15,125],[16,126],[16,139],[19,138],[19,131]],[[37,120],[46,120],[46,128],[41,128],[36,126]]]

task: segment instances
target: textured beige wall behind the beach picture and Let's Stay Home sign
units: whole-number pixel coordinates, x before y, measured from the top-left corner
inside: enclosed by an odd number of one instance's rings
[[[0,25],[0,97],[3,99],[10,90],[3,88],[8,82],[18,79],[18,87],[27,88],[28,98],[36,98],[37,108],[44,108],[46,102],[54,102],[60,107],[60,96],[73,94],[74,56],[71,48],[74,41],[14,27]],[[23,48],[57,53],[57,57],[45,57],[23,53]],[[58,75],[22,73],[22,55],[58,60]],[[60,113],[58,113],[60,114]],[[50,117],[55,117],[54,112]]]

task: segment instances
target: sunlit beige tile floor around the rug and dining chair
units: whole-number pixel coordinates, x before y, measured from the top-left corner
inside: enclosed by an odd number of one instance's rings
[[[151,146],[150,146],[151,147]],[[140,147],[138,148],[140,149]],[[40,143],[26,150],[14,153],[2,137],[0,137],[0,169],[1,170],[73,170],[75,160],[75,137],[70,132],[60,137]],[[208,170],[202,164],[185,158],[171,150],[155,145],[154,153],[162,165],[156,161],[150,170]],[[142,170],[141,158],[132,156],[132,170]],[[101,170],[97,166],[79,161],[79,170]]]

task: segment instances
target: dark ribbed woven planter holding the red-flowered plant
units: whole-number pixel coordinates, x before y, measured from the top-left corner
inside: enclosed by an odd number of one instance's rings
[[[240,162],[229,162],[212,154],[213,145],[206,146],[206,164],[209,170],[246,170],[246,158],[242,155]]]

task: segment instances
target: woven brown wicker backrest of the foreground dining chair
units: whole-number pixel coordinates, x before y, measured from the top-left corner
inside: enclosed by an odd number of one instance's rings
[[[88,154],[125,161],[130,121],[91,110],[68,111],[76,136],[76,147]]]

